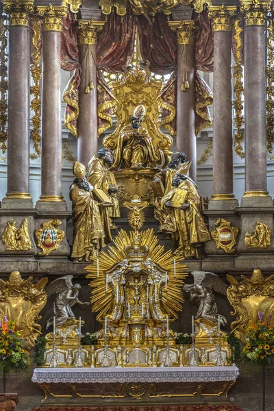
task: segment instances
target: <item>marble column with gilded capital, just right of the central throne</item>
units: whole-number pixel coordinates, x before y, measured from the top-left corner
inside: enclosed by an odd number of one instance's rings
[[[192,162],[190,177],[197,177],[195,134],[195,21],[170,21],[177,33],[177,123],[176,149]]]

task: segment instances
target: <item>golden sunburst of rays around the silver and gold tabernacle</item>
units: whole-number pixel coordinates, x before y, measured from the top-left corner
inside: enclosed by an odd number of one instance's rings
[[[92,312],[98,312],[97,320],[99,321],[108,314],[114,299],[112,286],[108,287],[108,292],[106,291],[105,275],[116,264],[128,258],[126,247],[134,245],[136,235],[138,235],[140,248],[144,246],[148,248],[145,258],[151,258],[153,263],[158,264],[169,277],[169,282],[166,288],[162,287],[160,296],[164,311],[175,319],[177,319],[177,312],[182,311],[184,302],[182,287],[187,275],[187,266],[181,262],[181,257],[173,256],[171,250],[164,252],[164,246],[158,244],[158,238],[153,234],[153,229],[138,233],[133,231],[127,233],[121,230],[108,252],[102,251],[99,258],[93,257],[93,262],[85,267],[88,272],[86,277],[92,279],[90,282]],[[174,260],[176,275],[174,275]]]

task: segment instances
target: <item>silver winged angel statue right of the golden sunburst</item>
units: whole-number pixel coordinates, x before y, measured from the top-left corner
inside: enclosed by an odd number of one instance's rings
[[[192,271],[194,284],[185,284],[184,290],[190,293],[190,301],[199,301],[199,308],[195,319],[207,319],[216,323],[218,319],[218,308],[214,299],[213,291],[223,295],[227,293],[227,286],[218,275],[208,271]],[[227,320],[220,315],[221,325],[225,325]]]

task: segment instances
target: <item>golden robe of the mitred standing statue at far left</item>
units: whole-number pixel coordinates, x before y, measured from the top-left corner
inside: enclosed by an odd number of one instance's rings
[[[85,191],[73,183],[70,190],[73,203],[73,252],[72,258],[88,261],[103,246],[105,233],[97,201],[92,191]]]

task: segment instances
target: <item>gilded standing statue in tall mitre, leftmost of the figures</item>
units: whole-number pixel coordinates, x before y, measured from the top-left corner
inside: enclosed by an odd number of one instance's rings
[[[112,203],[96,201],[94,188],[86,179],[86,167],[83,164],[75,162],[73,174],[76,178],[70,188],[74,227],[71,257],[76,261],[89,261],[105,245],[101,218],[108,219],[108,215],[101,214],[100,209],[112,206]]]

